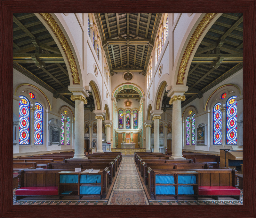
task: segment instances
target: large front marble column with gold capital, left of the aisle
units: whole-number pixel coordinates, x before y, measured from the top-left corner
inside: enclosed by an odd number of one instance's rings
[[[71,159],[88,159],[84,156],[84,104],[87,100],[83,95],[71,95],[75,101],[75,154]],[[81,119],[82,118],[82,119]]]

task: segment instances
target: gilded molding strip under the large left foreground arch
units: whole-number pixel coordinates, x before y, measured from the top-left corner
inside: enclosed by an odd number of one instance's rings
[[[59,40],[61,47],[63,48],[65,55],[68,59],[68,64],[71,70],[73,84],[79,85],[80,79],[78,74],[78,69],[76,65],[76,60],[74,58],[74,55],[72,53],[72,50],[68,44],[68,41],[63,34],[63,32],[60,29],[60,26],[57,24],[55,19],[52,17],[50,13],[40,13],[40,15],[43,17],[43,19],[47,22],[47,24],[51,27],[52,31],[56,35],[57,39]]]

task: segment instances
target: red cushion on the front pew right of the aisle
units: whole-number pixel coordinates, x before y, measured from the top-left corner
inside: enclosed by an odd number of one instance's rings
[[[198,195],[240,195],[240,190],[232,186],[199,186]]]

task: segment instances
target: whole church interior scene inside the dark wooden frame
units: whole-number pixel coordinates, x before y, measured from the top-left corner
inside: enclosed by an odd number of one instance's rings
[[[243,205],[243,13],[13,13],[13,205]]]

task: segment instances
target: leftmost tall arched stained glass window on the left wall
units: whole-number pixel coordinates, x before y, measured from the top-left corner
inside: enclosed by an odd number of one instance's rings
[[[19,144],[29,145],[29,100],[22,95],[19,97]]]

